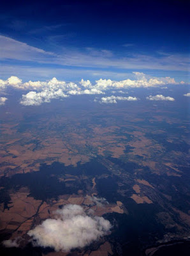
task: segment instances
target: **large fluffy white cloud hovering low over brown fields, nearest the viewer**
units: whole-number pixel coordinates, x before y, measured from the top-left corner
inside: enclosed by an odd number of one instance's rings
[[[57,210],[54,219],[43,221],[27,234],[32,237],[34,245],[69,252],[106,236],[110,228],[110,221],[89,216],[80,205],[69,204]]]

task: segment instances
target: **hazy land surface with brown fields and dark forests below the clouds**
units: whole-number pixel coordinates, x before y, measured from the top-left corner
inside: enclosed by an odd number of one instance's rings
[[[15,92],[0,110],[0,232],[20,245],[1,255],[189,255],[189,105],[171,93],[175,102],[84,95],[23,107]],[[27,232],[66,204],[109,220],[110,234],[71,252],[33,246]]]

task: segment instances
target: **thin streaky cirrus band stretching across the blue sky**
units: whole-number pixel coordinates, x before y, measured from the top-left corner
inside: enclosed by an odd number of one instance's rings
[[[24,42],[0,35],[1,60],[34,61],[53,65],[85,68],[126,68],[187,71],[189,60],[179,54],[158,53],[157,56],[131,54],[118,56],[106,49],[70,49],[63,47],[59,54],[45,51]],[[10,62],[11,63],[11,62]]]

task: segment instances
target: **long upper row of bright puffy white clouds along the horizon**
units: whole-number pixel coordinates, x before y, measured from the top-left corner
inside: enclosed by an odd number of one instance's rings
[[[121,88],[138,88],[138,87],[155,87],[163,86],[166,84],[179,84],[175,79],[171,77],[150,77],[142,72],[133,72],[136,79],[125,79],[122,81],[113,81],[111,79],[99,79],[95,84],[92,84],[89,80],[82,79],[78,85],[76,83],[66,83],[65,81],[59,81],[55,77],[49,81],[29,81],[22,83],[22,80],[16,76],[11,76],[7,80],[0,80],[0,86],[13,86],[23,90],[43,90],[43,88],[61,88],[63,91],[69,90],[92,90],[96,89],[99,91],[110,90],[110,89],[121,89]],[[121,91],[122,92],[122,91]]]

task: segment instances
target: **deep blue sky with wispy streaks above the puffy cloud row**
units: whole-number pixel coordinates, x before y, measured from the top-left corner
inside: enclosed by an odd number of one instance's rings
[[[3,1],[0,79],[188,81],[189,1]]]

